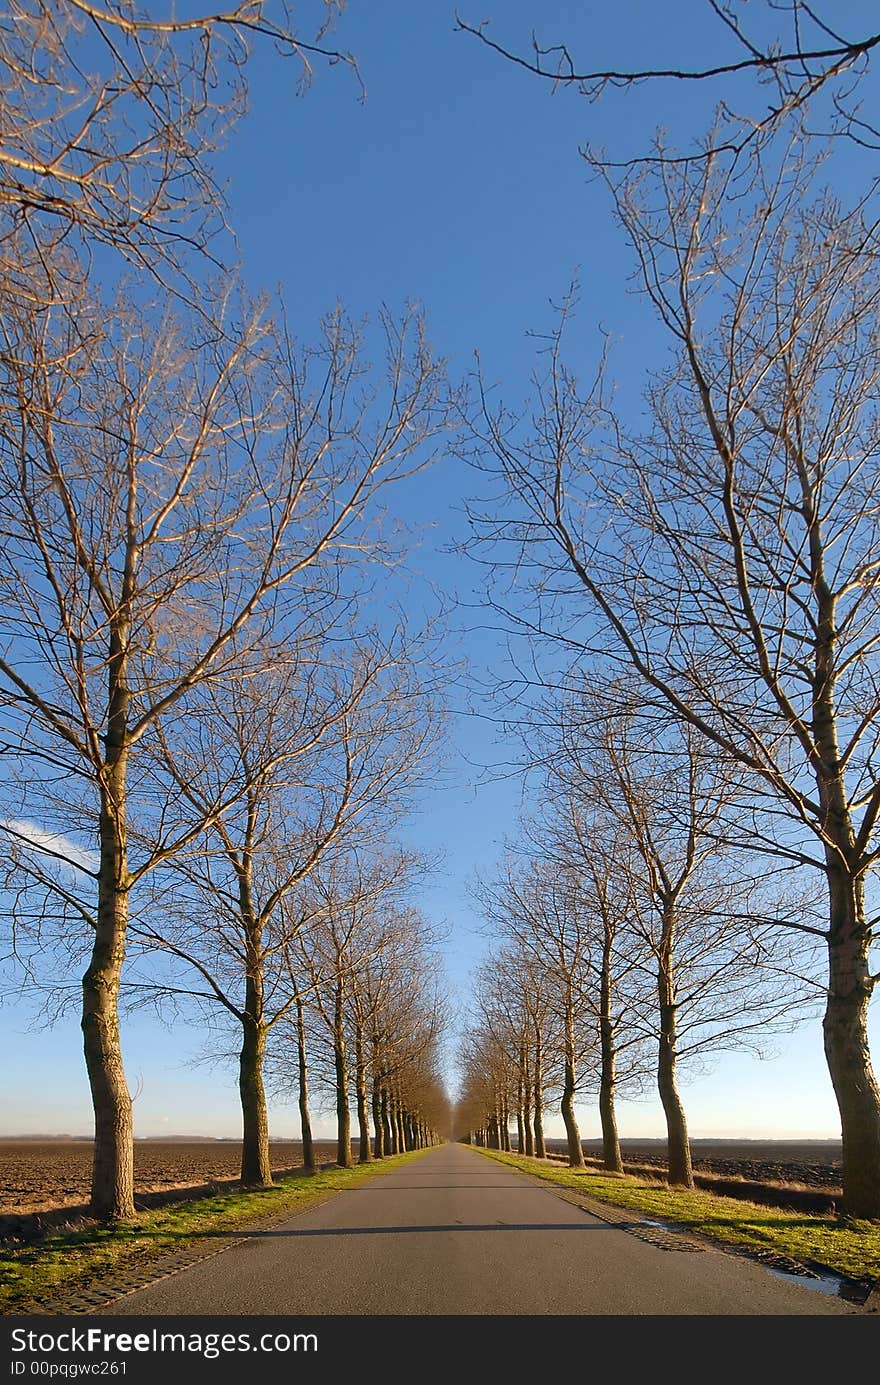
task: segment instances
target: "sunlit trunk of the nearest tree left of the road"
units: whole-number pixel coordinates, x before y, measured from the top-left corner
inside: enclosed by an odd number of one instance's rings
[[[112,672],[112,670],[111,670]],[[103,1220],[134,1216],[134,1130],[132,1098],[119,1042],[119,979],[129,921],[126,841],[127,694],[111,695],[107,769],[100,809],[97,918],[91,957],[83,975],[83,1053],[94,1107],[94,1156],[90,1210]]]

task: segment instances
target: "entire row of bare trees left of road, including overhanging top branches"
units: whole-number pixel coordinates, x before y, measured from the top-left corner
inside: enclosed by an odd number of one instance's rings
[[[342,1042],[366,981],[327,939],[352,910],[385,927],[380,877],[401,870],[382,857],[437,745],[431,632],[377,609],[371,583],[402,551],[384,497],[448,424],[442,363],[413,313],[380,320],[377,368],[341,310],[302,346],[280,305],[218,273],[212,155],[248,40],[308,75],[341,57],[319,28],[305,42],[261,3],[161,21],[122,0],[15,0],[0,26],[12,950],[37,985],[54,958],[53,993],[83,954],[104,1217],[134,1209],[126,996],[188,990],[234,1017],[243,1177],[266,1181],[267,1035],[335,986]],[[392,1147],[401,1112],[414,1140],[439,1100],[432,1001],[409,1000],[364,1010]]]

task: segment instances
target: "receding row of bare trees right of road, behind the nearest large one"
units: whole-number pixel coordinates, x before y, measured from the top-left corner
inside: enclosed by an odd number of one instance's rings
[[[575,1101],[597,1096],[604,1166],[622,1170],[618,1091],[655,1073],[668,1174],[693,1184],[682,1065],[761,1051],[815,1003],[815,964],[779,933],[809,900],[758,885],[730,838],[743,780],[689,729],[644,713],[633,684],[582,690],[543,731],[539,812],[479,891],[495,950],[477,978],[459,1123],[543,1156],[558,1097],[568,1162]]]

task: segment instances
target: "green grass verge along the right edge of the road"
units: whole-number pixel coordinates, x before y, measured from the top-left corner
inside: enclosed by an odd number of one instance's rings
[[[579,1172],[527,1155],[478,1150],[499,1163],[546,1179],[617,1208],[674,1222],[700,1235],[753,1253],[825,1267],[865,1284],[880,1283],[880,1224],[833,1216],[809,1216],[787,1208],[743,1202],[700,1188],[671,1188],[633,1174]]]

